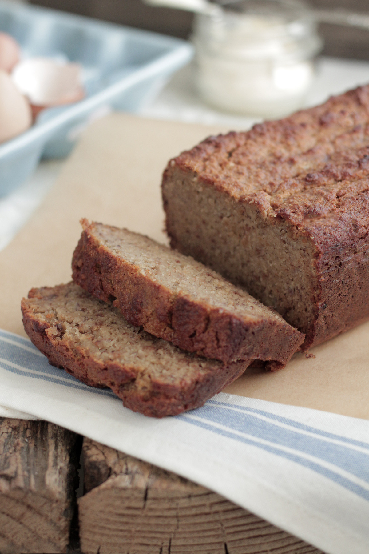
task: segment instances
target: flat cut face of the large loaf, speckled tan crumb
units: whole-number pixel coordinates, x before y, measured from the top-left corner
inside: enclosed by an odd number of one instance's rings
[[[194,181],[192,172],[172,171],[163,182],[172,247],[276,309],[306,334],[299,345],[308,348],[319,293],[310,240],[281,219],[264,219],[255,204],[235,203],[210,184]]]

